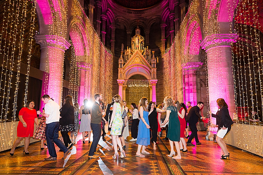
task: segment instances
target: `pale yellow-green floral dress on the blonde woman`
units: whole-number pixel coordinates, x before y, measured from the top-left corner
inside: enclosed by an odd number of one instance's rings
[[[124,106],[123,106],[123,110],[124,110]],[[111,130],[110,130],[111,135],[121,135],[122,134],[122,128],[123,128],[122,111],[123,110],[121,110],[120,103],[117,103],[116,114],[111,124]]]

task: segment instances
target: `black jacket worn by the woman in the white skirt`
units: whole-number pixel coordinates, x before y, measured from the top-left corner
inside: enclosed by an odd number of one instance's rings
[[[218,129],[227,125],[227,127],[233,124],[233,121],[229,115],[229,111],[227,107],[222,107],[217,111],[216,115],[212,114],[212,117],[216,118],[216,124],[218,125]]]

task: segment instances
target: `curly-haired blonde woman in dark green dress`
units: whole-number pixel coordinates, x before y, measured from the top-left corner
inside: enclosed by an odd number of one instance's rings
[[[165,125],[168,120],[168,133],[167,133],[167,138],[169,139],[170,142],[170,147],[171,147],[171,152],[170,155],[167,155],[169,157],[172,157],[173,159],[181,159],[181,153],[180,153],[180,122],[178,119],[178,110],[173,104],[173,99],[171,97],[166,97],[164,98],[164,103],[168,107],[166,108],[166,119],[162,123],[162,125]],[[177,151],[177,156],[175,156],[175,151],[174,151],[174,143],[175,143],[175,148]]]

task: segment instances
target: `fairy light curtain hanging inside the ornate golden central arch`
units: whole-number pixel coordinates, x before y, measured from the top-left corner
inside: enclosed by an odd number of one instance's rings
[[[127,80],[129,90],[129,102],[139,104],[142,97],[148,97],[148,80]]]

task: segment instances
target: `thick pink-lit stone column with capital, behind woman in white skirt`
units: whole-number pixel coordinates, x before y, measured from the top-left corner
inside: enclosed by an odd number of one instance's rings
[[[236,42],[237,38],[235,34],[214,34],[200,44],[207,53],[210,110],[215,114],[218,110],[216,100],[223,98],[231,118],[235,113],[231,42]],[[211,123],[215,124],[215,119],[211,119]]]

